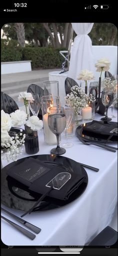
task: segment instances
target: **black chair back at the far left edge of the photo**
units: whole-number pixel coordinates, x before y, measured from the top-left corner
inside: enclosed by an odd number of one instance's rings
[[[19,109],[16,102],[6,93],[1,92],[1,110],[7,114],[14,112]]]

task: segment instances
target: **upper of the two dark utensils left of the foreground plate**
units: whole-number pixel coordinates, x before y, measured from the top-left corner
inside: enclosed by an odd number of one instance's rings
[[[10,216],[12,216],[14,219],[18,220],[20,223],[22,223],[24,226],[28,227],[30,230],[32,230],[36,234],[38,234],[41,231],[41,229],[39,227],[36,227],[36,226],[32,225],[31,223],[25,221],[24,219],[21,219],[20,217],[18,217],[16,215],[14,215],[13,213],[3,209],[2,207],[1,207],[1,210],[6,212],[7,214],[9,214]]]

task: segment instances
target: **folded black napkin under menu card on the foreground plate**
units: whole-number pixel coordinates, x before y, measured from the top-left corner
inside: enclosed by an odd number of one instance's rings
[[[59,190],[52,187],[49,189],[46,184],[60,173],[70,175],[70,179]],[[65,169],[62,166],[51,166],[33,158],[25,159],[22,163],[10,168],[7,174],[27,186],[31,192],[42,195],[47,192],[49,197],[60,200],[67,200],[85,179],[85,175],[79,170],[78,173],[74,173],[69,167]]]

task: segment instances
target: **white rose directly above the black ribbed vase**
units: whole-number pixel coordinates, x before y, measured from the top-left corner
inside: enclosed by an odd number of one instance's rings
[[[39,131],[43,127],[42,120],[39,120],[39,118],[35,115],[32,115],[29,117],[29,119],[26,121],[26,125],[30,127],[33,131]]]

